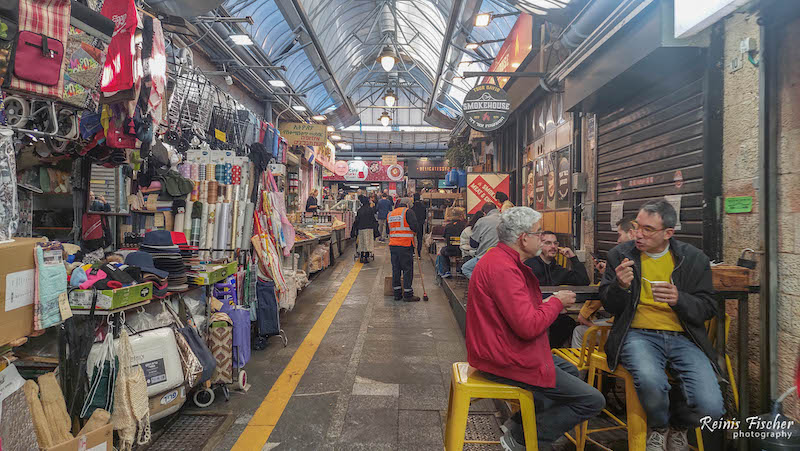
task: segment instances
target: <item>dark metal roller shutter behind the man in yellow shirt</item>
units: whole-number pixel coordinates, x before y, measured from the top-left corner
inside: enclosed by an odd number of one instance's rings
[[[676,238],[703,248],[703,68],[692,65],[613,111],[598,114],[595,251],[616,246],[612,205],[635,216],[648,201],[680,196]]]

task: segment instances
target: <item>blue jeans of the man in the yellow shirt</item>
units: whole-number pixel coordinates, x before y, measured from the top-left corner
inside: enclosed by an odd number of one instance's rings
[[[619,357],[633,375],[650,428],[693,428],[706,415],[716,420],[725,413],[711,361],[686,335],[631,329]]]

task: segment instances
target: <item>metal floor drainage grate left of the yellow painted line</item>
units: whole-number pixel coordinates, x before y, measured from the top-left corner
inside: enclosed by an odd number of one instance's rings
[[[232,422],[230,413],[182,412],[146,451],[200,451],[218,441]],[[225,427],[223,427],[225,426]],[[208,449],[211,449],[210,447]]]

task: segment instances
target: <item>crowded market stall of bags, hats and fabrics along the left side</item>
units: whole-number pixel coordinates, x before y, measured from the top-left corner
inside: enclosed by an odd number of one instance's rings
[[[0,6],[0,443],[128,450],[189,400],[247,392],[251,352],[286,345],[281,317],[352,218],[303,214],[320,163],[194,66],[169,16],[16,6]]]

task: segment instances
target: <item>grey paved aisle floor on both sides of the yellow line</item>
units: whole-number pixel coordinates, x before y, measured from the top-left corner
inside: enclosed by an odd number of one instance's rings
[[[229,450],[244,431],[353,267],[352,252],[319,274],[282,317],[288,347],[273,337],[267,349],[253,352],[246,366],[252,388],[209,407],[236,416],[217,449]],[[433,265],[422,262],[430,301],[394,301],[383,296],[388,248],[376,244],[375,260],[358,274],[264,449],[442,450],[450,367],[466,360],[466,348],[434,285]],[[414,289],[422,295],[418,277]]]

